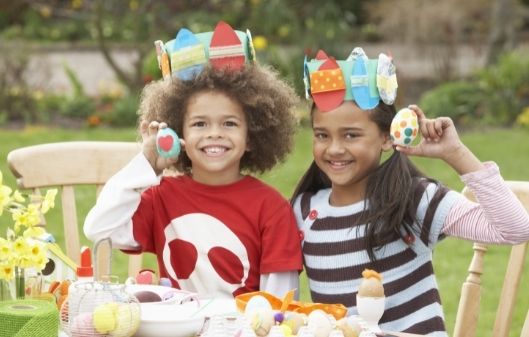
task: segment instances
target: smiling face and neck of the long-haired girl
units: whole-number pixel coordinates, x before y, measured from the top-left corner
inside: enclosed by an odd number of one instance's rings
[[[314,160],[332,182],[331,204],[362,200],[382,151],[391,149],[389,135],[352,101],[329,112],[315,108],[312,122]]]

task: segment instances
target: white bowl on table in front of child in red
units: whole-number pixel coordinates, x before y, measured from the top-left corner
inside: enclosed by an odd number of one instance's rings
[[[202,330],[208,317],[237,314],[234,299],[210,298],[183,304],[151,303],[141,307],[135,337],[190,337]]]

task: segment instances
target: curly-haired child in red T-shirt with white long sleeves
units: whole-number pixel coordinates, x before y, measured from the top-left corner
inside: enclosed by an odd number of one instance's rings
[[[105,185],[85,234],[156,254],[160,276],[201,295],[282,297],[297,288],[302,260],[292,208],[243,174],[285,158],[295,102],[289,86],[254,63],[206,64],[191,79],[149,84],[139,108],[143,151]],[[166,125],[183,138],[176,159],[156,150]],[[173,164],[182,174],[160,178]]]

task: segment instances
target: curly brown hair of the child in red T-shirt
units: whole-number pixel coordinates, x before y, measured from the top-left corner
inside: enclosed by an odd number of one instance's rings
[[[247,64],[240,71],[219,71],[211,67],[192,81],[156,81],[141,94],[139,120],[166,122],[182,135],[184,115],[190,99],[200,92],[218,91],[241,104],[248,124],[248,148],[240,168],[264,172],[285,159],[291,151],[296,120],[292,108],[298,102],[294,90],[272,69]],[[176,168],[191,172],[191,161],[180,152]]]

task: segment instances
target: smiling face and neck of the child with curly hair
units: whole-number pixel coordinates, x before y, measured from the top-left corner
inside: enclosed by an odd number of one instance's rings
[[[238,181],[240,160],[248,148],[247,134],[246,115],[238,102],[217,91],[195,94],[183,125],[193,179],[209,185]]]

